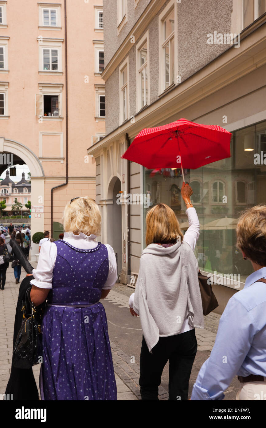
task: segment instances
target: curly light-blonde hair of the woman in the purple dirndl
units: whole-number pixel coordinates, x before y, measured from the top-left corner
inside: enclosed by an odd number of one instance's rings
[[[89,196],[81,196],[68,202],[64,208],[63,225],[65,232],[85,235],[101,234],[101,213],[98,205]]]

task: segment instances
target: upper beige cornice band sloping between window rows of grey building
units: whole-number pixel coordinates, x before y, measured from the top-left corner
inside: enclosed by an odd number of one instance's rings
[[[165,0],[152,0],[149,2],[149,5],[146,7],[140,18],[137,20],[134,27],[130,30],[125,40],[121,43],[114,56],[106,65],[106,68],[102,72],[103,80],[108,80],[108,78],[117,68],[117,65],[120,64],[120,62],[123,61],[125,56],[129,53],[130,49],[132,48],[132,36],[134,36],[135,41],[137,41],[137,39],[139,39],[142,33],[146,30],[152,19],[164,6],[164,4]]]

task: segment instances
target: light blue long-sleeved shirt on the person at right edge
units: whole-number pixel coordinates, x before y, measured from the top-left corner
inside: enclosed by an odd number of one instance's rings
[[[266,377],[266,267],[251,273],[228,301],[210,357],[202,365],[191,400],[222,400],[235,375]]]

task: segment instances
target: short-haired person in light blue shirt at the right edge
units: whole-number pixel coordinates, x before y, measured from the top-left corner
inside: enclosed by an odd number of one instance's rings
[[[266,205],[249,208],[241,215],[237,247],[254,272],[225,307],[191,400],[222,400],[235,375],[240,380],[237,400],[266,398]]]

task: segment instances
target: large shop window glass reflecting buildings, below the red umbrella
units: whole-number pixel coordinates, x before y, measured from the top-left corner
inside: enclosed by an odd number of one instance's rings
[[[195,250],[199,268],[211,273],[240,273],[245,282],[252,267],[236,247],[236,225],[246,208],[266,204],[266,121],[233,132],[231,158],[184,173],[193,189],[191,200],[201,224]],[[188,224],[181,200],[182,182],[179,169],[145,168],[144,189],[151,195],[150,205],[169,205],[185,232]],[[214,224],[209,226],[211,222]]]

